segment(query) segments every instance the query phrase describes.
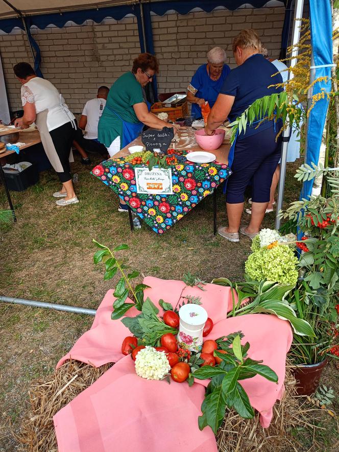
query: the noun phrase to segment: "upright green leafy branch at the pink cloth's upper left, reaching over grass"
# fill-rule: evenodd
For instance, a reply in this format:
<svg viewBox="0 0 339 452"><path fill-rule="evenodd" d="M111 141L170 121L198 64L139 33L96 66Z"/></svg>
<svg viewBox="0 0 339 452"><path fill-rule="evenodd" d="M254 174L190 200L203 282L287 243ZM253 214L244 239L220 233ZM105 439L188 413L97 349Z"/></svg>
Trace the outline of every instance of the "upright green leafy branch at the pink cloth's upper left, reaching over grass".
<svg viewBox="0 0 339 452"><path fill-rule="evenodd" d="M131 273L126 274L124 270L130 267L127 264L124 264L123 261L118 260L114 254L121 250L128 250L129 246L126 244L118 245L111 251L107 246L96 242L94 239L93 243L100 248L93 256L94 264L99 264L100 262L105 264L106 271L104 280L112 279L117 271L122 275L117 282L113 293L116 300L113 303L112 320L119 319L133 306L141 311L143 291L149 286L146 286L146 284L137 284L135 288L133 288L130 281L131 279L137 278L140 273L133 270ZM129 295L133 303L126 303L126 299Z"/></svg>

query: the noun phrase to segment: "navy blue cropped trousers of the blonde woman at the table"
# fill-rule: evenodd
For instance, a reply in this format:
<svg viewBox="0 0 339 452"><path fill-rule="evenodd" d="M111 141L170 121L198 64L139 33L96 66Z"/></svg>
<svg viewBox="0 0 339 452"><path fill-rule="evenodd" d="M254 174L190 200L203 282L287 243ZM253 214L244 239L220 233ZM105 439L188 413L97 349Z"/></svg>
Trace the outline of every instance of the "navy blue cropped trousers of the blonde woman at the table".
<svg viewBox="0 0 339 452"><path fill-rule="evenodd" d="M269 202L273 174L281 155L281 139L275 141L280 128L265 129L249 137L237 139L232 175L227 181L226 202L244 202L246 187L252 185L253 202Z"/></svg>

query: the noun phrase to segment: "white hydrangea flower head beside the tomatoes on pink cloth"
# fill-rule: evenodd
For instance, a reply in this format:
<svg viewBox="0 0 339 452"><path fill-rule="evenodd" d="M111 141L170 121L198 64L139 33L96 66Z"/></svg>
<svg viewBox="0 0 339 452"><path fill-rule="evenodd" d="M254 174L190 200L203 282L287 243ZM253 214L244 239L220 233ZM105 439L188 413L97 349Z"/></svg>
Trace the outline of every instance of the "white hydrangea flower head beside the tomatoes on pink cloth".
<svg viewBox="0 0 339 452"><path fill-rule="evenodd" d="M165 353L154 347L142 348L136 355L135 372L142 378L161 380L170 370Z"/></svg>

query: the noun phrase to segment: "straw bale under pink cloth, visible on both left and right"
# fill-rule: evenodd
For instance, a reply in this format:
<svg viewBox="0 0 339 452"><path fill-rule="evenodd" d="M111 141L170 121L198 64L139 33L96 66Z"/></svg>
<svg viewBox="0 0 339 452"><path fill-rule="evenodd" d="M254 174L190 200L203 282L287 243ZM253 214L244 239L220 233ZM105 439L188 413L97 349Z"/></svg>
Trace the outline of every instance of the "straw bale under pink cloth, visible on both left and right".
<svg viewBox="0 0 339 452"><path fill-rule="evenodd" d="M88 388L111 364L98 369L78 361L67 361L47 382L36 382L29 391L30 408L15 438L21 450L28 452L57 452L53 415ZM305 397L296 395L295 379L287 368L285 393L274 406L269 429L263 429L259 415L243 419L235 411L226 412L217 434L219 452L291 452L302 446L292 436L294 427L313 427L321 410L310 406ZM187 451L189 452L189 451Z"/></svg>

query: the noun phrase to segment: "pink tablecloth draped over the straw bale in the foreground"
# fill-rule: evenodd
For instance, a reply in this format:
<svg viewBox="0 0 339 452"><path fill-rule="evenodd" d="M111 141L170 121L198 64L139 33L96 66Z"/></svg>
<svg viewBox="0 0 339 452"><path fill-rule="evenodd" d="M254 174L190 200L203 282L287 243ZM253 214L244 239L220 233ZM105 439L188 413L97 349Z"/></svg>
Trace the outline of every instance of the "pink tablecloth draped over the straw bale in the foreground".
<svg viewBox="0 0 339 452"><path fill-rule="evenodd" d="M147 277L151 286L145 295L158 305L162 298L177 304L185 284L182 281ZM238 330L243 343L250 342L249 356L261 359L279 377L278 384L261 376L243 380L252 406L260 412L263 427L269 426L273 405L281 397L285 376L286 353L292 343L289 323L263 314L226 319L232 306L230 289L207 284L206 291L185 288L183 295L200 296L213 319L214 327L206 339L216 339ZM119 320L110 319L113 303L108 291L98 308L92 328L62 358L69 358L99 367L116 362L92 386L83 391L54 416L59 452L215 452L212 430L198 429L198 416L204 398L204 385L189 388L186 383L145 380L135 374L130 356L120 350L129 330ZM182 300L183 301L183 300ZM160 311L161 312L161 311ZM134 316L137 311L130 311Z"/></svg>

